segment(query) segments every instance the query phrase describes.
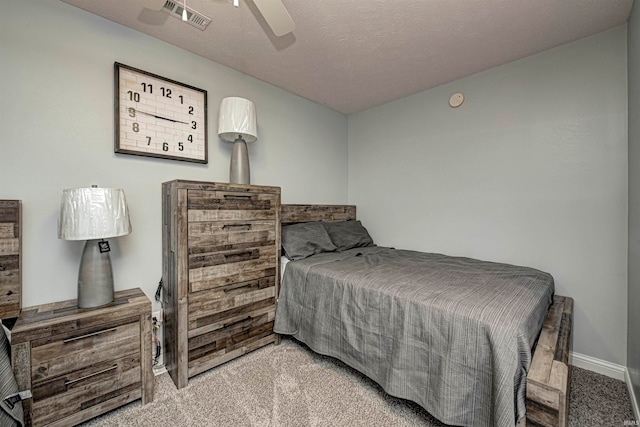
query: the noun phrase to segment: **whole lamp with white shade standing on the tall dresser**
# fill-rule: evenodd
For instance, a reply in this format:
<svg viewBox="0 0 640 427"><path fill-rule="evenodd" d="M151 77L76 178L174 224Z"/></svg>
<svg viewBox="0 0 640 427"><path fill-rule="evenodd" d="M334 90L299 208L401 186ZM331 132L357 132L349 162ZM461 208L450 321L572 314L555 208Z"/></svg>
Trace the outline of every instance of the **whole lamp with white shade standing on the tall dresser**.
<svg viewBox="0 0 640 427"><path fill-rule="evenodd" d="M253 102L244 98L224 98L220 103L218 136L233 142L229 182L249 184L249 153L246 143L258 140L256 109Z"/></svg>

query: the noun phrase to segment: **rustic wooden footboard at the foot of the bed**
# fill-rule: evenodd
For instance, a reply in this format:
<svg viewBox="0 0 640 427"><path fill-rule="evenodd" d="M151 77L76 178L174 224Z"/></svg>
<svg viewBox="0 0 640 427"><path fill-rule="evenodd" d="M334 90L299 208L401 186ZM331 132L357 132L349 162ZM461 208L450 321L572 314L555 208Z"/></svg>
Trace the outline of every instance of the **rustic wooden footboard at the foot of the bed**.
<svg viewBox="0 0 640 427"><path fill-rule="evenodd" d="M573 298L554 296L527 375L527 426L567 425L572 323Z"/></svg>

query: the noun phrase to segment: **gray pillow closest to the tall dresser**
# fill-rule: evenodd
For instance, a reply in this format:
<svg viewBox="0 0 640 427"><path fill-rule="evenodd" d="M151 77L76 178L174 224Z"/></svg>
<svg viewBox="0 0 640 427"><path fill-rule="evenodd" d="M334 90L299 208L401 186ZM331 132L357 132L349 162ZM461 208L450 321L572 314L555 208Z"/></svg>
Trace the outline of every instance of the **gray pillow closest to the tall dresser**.
<svg viewBox="0 0 640 427"><path fill-rule="evenodd" d="M292 261L337 249L320 222L283 225L282 247L286 257Z"/></svg>

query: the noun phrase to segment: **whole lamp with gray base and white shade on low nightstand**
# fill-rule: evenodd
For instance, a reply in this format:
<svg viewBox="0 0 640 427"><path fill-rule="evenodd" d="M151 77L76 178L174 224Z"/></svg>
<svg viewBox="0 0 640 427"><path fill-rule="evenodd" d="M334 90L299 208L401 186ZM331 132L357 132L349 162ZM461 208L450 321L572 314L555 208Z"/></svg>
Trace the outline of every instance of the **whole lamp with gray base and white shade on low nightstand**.
<svg viewBox="0 0 640 427"><path fill-rule="evenodd" d="M73 188L62 191L58 238L86 240L78 272L78 307L93 308L113 301L109 242L131 233L124 190Z"/></svg>

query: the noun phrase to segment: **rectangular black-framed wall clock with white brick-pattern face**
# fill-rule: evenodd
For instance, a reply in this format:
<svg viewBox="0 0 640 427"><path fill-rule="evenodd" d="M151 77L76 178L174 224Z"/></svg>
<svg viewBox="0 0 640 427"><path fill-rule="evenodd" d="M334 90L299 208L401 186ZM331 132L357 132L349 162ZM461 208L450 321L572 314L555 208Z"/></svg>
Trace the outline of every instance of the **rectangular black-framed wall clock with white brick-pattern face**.
<svg viewBox="0 0 640 427"><path fill-rule="evenodd" d="M115 63L115 152L207 163L207 91Z"/></svg>

